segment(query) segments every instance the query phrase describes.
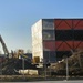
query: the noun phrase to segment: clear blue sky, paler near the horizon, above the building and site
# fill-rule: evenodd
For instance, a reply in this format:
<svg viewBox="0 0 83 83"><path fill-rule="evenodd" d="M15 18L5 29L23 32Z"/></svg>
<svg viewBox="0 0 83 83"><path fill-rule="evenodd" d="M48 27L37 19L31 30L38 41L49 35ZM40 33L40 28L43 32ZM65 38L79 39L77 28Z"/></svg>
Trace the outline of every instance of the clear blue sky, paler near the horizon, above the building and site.
<svg viewBox="0 0 83 83"><path fill-rule="evenodd" d="M83 18L83 0L0 0L0 34L9 51L32 50L32 24L54 18Z"/></svg>

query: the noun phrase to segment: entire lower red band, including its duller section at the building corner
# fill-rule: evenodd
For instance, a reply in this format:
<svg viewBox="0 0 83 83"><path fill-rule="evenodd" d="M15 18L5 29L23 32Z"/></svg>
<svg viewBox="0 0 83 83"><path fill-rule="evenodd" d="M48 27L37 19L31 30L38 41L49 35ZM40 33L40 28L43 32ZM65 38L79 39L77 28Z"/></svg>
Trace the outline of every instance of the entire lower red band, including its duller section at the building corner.
<svg viewBox="0 0 83 83"><path fill-rule="evenodd" d="M83 49L82 41L44 41L44 51L71 51L76 49Z"/></svg>

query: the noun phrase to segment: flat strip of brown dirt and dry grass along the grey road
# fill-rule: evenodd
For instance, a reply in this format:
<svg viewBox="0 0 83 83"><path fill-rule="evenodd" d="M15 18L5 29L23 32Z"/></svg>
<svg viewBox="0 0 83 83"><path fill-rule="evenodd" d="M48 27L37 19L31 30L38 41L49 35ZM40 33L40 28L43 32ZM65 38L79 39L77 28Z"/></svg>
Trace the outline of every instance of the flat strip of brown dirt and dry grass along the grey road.
<svg viewBox="0 0 83 83"><path fill-rule="evenodd" d="M0 82L34 82L34 81L64 81L66 76L41 75L0 75ZM69 76L68 81L83 80L83 76Z"/></svg>

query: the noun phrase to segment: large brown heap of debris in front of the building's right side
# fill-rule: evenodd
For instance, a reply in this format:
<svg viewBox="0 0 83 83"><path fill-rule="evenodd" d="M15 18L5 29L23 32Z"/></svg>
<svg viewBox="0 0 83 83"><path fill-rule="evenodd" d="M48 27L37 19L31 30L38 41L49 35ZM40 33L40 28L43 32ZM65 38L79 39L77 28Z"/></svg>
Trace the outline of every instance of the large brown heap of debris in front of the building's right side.
<svg viewBox="0 0 83 83"><path fill-rule="evenodd" d="M68 65L69 74L83 75L83 50L79 50L68 58ZM51 64L51 70L55 73L65 74L66 59Z"/></svg>

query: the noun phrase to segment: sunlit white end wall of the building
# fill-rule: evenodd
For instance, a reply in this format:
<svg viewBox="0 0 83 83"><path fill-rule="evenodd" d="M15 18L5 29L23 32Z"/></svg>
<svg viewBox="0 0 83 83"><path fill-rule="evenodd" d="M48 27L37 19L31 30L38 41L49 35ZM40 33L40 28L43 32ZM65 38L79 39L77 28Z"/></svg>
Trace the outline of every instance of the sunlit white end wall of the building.
<svg viewBox="0 0 83 83"><path fill-rule="evenodd" d="M43 56L42 50L42 20L32 25L32 55Z"/></svg>

